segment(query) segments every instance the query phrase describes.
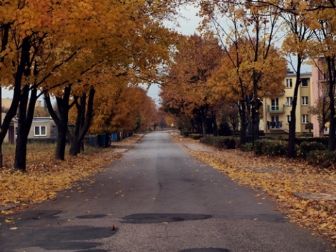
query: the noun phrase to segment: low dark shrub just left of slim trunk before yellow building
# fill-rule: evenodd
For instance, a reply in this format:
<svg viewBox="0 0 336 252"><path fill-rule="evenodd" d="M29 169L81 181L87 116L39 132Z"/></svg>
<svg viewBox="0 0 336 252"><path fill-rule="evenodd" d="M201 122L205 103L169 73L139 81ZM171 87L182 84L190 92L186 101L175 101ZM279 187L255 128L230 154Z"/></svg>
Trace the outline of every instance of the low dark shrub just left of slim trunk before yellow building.
<svg viewBox="0 0 336 252"><path fill-rule="evenodd" d="M254 143L254 153L256 155L287 155L287 142L279 140L262 139Z"/></svg>

